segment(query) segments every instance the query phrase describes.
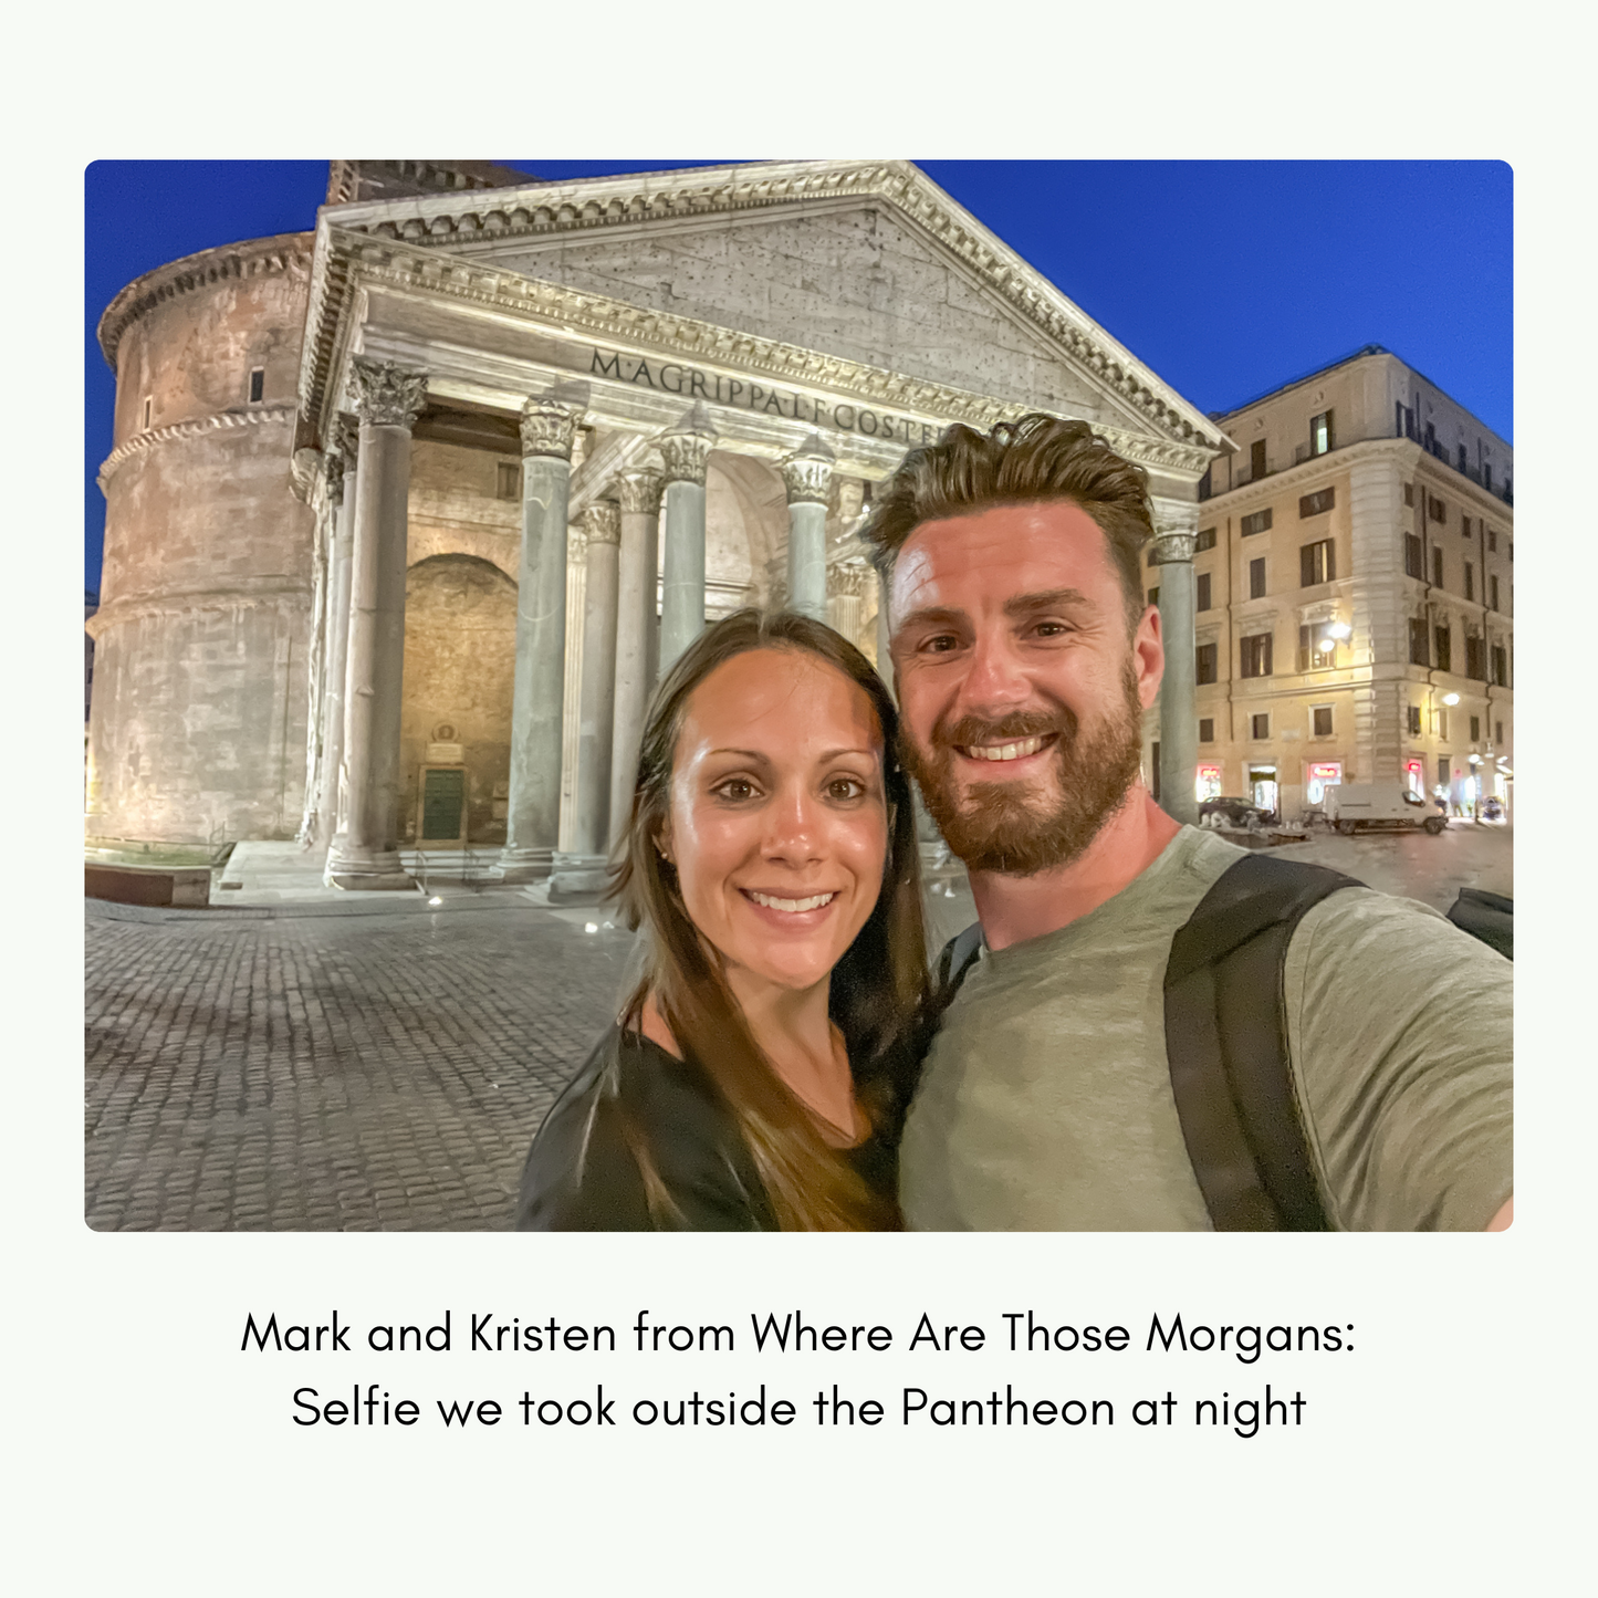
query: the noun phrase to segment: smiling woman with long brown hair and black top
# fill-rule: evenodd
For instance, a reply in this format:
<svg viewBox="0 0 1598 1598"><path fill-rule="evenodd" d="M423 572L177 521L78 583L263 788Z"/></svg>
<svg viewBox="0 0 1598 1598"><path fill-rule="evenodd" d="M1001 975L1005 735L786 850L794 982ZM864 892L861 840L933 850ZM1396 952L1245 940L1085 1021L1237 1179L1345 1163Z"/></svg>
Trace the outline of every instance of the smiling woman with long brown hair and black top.
<svg viewBox="0 0 1598 1598"><path fill-rule="evenodd" d="M927 962L895 732L809 617L740 610L676 662L612 866L644 975L534 1139L519 1227L900 1224Z"/></svg>

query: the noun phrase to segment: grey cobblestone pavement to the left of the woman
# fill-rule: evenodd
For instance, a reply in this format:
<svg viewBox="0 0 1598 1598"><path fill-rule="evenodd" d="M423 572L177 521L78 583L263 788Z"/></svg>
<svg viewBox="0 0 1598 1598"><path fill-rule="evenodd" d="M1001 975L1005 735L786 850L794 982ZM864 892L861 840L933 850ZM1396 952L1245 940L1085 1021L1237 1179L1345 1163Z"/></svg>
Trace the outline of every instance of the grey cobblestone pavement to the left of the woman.
<svg viewBox="0 0 1598 1598"><path fill-rule="evenodd" d="M96 1230L495 1230L631 938L519 896L88 917Z"/></svg>

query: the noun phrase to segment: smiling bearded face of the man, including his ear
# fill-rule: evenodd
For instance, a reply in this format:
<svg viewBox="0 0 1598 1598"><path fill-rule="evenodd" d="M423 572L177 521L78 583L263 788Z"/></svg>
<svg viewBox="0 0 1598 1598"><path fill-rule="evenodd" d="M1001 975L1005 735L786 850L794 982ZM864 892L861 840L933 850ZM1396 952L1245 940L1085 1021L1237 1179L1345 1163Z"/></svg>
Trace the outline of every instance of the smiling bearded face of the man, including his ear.
<svg viewBox="0 0 1598 1598"><path fill-rule="evenodd" d="M1066 502L928 521L888 591L906 764L949 847L1015 876L1075 860L1138 780L1159 612L1128 634L1099 526Z"/></svg>

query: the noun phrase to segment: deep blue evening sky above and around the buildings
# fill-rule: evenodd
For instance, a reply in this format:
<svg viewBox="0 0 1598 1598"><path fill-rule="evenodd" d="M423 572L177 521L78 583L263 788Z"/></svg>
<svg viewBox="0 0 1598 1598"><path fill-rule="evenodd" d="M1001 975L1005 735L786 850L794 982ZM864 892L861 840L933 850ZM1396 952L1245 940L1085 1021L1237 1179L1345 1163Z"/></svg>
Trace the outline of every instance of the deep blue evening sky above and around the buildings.
<svg viewBox="0 0 1598 1598"><path fill-rule="evenodd" d="M708 160L505 165L558 179ZM1501 161L920 165L1200 411L1384 344L1513 441L1513 179ZM115 398L101 312L179 256L315 227L326 187L324 161L88 168L86 586L99 586L94 475Z"/></svg>

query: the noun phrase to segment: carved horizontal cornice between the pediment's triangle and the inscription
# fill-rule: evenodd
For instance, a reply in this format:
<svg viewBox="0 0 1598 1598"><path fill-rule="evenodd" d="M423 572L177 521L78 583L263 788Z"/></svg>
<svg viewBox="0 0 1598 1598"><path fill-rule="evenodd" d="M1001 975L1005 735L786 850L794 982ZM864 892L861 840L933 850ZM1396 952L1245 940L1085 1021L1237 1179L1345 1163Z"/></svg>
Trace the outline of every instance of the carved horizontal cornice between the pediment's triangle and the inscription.
<svg viewBox="0 0 1598 1598"><path fill-rule="evenodd" d="M729 372L764 372L797 387L869 400L943 422L965 422L980 430L996 422L1013 422L1032 409L716 323L646 310L503 267L441 257L409 244L328 229L316 244L299 388L302 412L318 436L326 431L326 417L337 404L331 382L339 368L339 352L348 344L356 302L369 288L455 299L497 315L508 313L540 331L588 334L630 355L673 355L706 366L719 364ZM1214 459L1210 446L1098 422L1093 430L1119 454L1144 467L1197 476Z"/></svg>

